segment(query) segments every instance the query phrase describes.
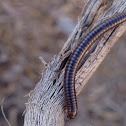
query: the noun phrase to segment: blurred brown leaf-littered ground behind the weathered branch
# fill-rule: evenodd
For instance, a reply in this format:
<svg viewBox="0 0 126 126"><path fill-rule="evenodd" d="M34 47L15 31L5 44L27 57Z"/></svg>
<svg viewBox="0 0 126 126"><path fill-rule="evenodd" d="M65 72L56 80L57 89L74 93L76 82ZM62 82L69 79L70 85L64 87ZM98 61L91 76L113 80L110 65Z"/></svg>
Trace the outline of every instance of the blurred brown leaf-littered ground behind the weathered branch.
<svg viewBox="0 0 126 126"><path fill-rule="evenodd" d="M0 104L12 126L23 125L25 97L78 22L78 0L0 0ZM126 126L126 33L78 96L67 126ZM0 110L0 126L7 126Z"/></svg>

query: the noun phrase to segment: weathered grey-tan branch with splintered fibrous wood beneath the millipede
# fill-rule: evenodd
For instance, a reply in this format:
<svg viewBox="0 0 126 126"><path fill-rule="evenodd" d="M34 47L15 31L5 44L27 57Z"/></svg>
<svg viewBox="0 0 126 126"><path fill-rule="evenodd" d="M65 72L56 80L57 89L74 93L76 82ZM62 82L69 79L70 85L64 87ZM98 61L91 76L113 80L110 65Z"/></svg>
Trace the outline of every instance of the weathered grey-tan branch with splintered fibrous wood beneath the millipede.
<svg viewBox="0 0 126 126"><path fill-rule="evenodd" d="M125 0L89 0L84 5L82 17L71 33L61 52L47 64L42 78L29 94L26 103L24 126L63 126L64 125L64 66L68 56L78 45L80 39L91 28L111 17L125 11ZM108 31L91 51L84 57L76 75L76 92L80 93L84 85L108 54L111 47L126 30L126 23Z"/></svg>

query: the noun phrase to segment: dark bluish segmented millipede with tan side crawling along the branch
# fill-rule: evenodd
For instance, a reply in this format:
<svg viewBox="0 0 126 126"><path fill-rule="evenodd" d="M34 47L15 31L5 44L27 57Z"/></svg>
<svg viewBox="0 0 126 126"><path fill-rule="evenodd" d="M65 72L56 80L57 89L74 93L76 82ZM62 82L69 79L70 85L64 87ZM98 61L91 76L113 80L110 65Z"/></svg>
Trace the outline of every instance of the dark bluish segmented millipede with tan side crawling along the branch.
<svg viewBox="0 0 126 126"><path fill-rule="evenodd" d="M75 76L81 59L96 43L97 39L99 39L105 32L118 26L124 21L126 21L126 12L116 14L97 25L87 34L85 39L79 43L68 59L64 74L65 107L68 118L74 119L77 115L78 107L75 91Z"/></svg>

